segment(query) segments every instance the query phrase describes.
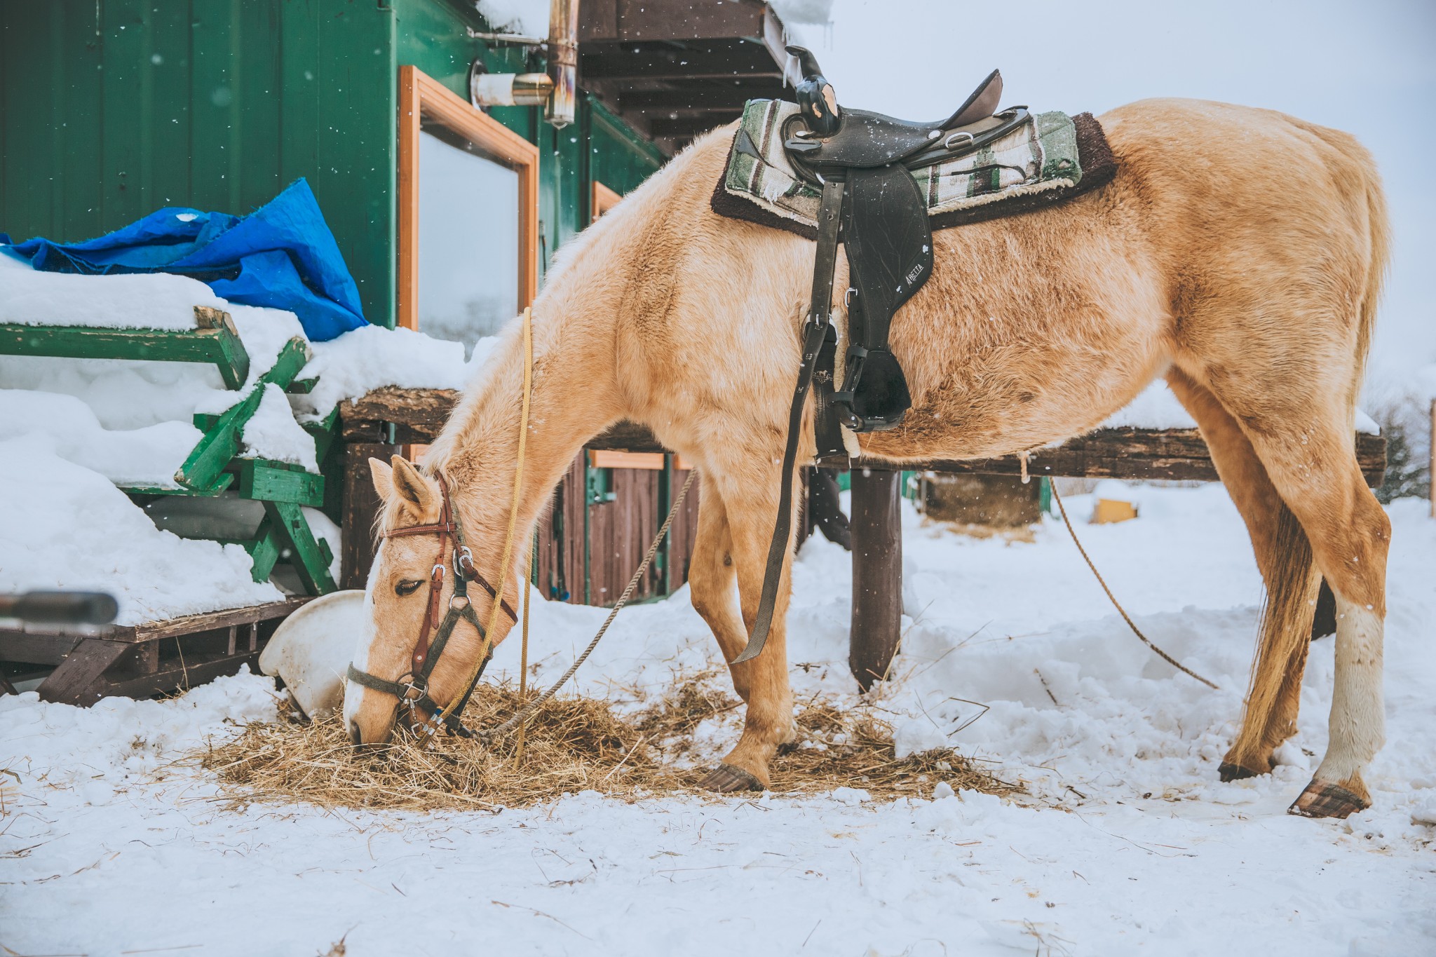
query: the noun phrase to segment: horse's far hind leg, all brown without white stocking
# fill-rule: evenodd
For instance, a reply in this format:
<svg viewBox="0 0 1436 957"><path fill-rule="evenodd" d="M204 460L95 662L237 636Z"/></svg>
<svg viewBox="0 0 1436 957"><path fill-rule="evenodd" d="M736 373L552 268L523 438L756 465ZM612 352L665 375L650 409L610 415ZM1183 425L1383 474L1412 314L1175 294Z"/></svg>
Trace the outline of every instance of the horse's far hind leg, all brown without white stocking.
<svg viewBox="0 0 1436 957"><path fill-rule="evenodd" d="M1246 522L1256 567L1267 584L1272 611L1262 616L1242 729L1219 769L1222 781L1264 775L1272 769L1277 748L1297 732L1310 647L1311 616L1302 610L1311 600L1311 547L1271 484L1251 439L1216 396L1178 369L1167 373L1167 383L1202 429L1216 472ZM1300 541L1291 541L1292 537Z"/></svg>

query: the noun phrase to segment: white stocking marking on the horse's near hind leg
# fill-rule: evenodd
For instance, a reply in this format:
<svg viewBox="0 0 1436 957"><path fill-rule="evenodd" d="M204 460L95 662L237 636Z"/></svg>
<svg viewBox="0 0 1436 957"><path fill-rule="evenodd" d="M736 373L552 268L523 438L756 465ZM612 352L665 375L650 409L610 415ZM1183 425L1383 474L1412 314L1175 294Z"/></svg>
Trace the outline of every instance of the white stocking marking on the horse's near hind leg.
<svg viewBox="0 0 1436 957"><path fill-rule="evenodd" d="M1381 617L1337 597L1337 676L1330 742L1315 779L1341 782L1358 773L1386 743L1381 692Z"/></svg>

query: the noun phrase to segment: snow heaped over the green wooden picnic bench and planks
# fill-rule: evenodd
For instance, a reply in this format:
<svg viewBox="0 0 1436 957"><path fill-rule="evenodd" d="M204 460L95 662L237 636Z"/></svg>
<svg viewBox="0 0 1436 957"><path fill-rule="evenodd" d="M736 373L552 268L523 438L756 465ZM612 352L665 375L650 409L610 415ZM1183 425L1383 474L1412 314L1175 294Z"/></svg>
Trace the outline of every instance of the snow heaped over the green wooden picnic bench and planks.
<svg viewBox="0 0 1436 957"><path fill-rule="evenodd" d="M227 303L180 275L36 273L0 254L0 321L192 329L197 304L234 319L250 354L241 389L225 389L218 370L202 363L0 356L0 492L7 502L0 512L0 590L101 588L119 598L123 624L281 597L274 585L251 581L250 558L238 545L161 531L215 535L223 525L224 537L247 538L263 517L258 504L231 495L198 504L167 496L141 509L115 486L178 488L175 472L202 438L192 418L221 413L257 387L280 350L303 339L294 314ZM314 343L300 376L322 376L317 389L290 397L266 385L243 432L241 456L317 471L314 439L296 416L323 418L339 400L383 385L460 389L494 341L481 340L468 363L462 344L409 330L365 326ZM39 511L30 504L37 482L46 501ZM329 541L337 575L339 529L322 512L306 514L316 537Z"/></svg>

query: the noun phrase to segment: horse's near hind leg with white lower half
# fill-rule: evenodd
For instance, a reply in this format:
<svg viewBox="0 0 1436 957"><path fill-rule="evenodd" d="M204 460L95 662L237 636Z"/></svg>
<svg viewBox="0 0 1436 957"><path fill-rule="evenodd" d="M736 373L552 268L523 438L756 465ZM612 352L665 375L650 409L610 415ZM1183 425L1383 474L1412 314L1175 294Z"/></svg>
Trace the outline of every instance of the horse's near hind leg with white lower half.
<svg viewBox="0 0 1436 957"><path fill-rule="evenodd" d="M1328 353L1330 354L1330 353ZM1315 598L1302 538L1337 600L1337 669L1331 694L1330 740L1315 776L1291 806L1294 814L1344 818L1371 803L1361 770L1384 742L1381 640L1386 617L1386 555L1391 524L1366 486L1351 442L1350 413L1331 379L1300 356L1321 362L1321 350L1302 350L1290 367L1256 363L1251 379L1228 366L1212 392L1242 423L1267 466L1272 485L1300 522L1278 522L1279 574L1298 583L1281 605L1268 603L1267 618L1305 640ZM1285 374L1282 374L1285 372ZM1327 370L1328 372L1328 370ZM1353 370L1353 379L1356 373ZM1212 387L1212 383L1205 383ZM1307 591L1301 591L1305 587ZM1274 699L1279 687L1262 689ZM1252 694L1258 693L1254 683Z"/></svg>

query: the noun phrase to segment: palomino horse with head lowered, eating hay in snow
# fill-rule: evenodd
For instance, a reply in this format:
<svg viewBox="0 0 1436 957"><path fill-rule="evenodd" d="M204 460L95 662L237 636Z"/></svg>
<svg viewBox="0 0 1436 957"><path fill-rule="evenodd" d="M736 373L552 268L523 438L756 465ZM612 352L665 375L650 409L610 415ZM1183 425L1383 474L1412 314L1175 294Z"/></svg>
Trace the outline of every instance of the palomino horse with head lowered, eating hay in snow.
<svg viewBox="0 0 1436 957"><path fill-rule="evenodd" d="M932 280L892 329L913 407L900 428L859 442L895 463L1011 455L1094 428L1166 376L1246 521L1268 590L1244 725L1219 773L1269 772L1295 730L1324 575L1337 597L1331 739L1292 811L1346 816L1370 803L1361 772L1384 735L1390 524L1353 449L1387 258L1374 164L1346 133L1244 106L1144 100L1101 125L1119 164L1109 185L933 235ZM752 626L780 484L791 481L780 462L814 250L711 211L731 139L731 126L701 138L563 250L533 308L516 538L528 541L586 440L619 419L649 426L702 472L692 603L729 661ZM491 583L514 581L524 561L498 568L523 374L513 323L426 472L372 462L382 529L438 521L442 476ZM437 547L434 535L383 542L359 669L409 673ZM768 760L794 737L787 574L767 650L732 667L747 716L705 782L714 789L767 785ZM487 621L490 597L471 595ZM511 623L497 623L501 640ZM481 647L461 623L432 671L432 700L452 700ZM356 743L388 739L396 710L393 694L349 684Z"/></svg>

